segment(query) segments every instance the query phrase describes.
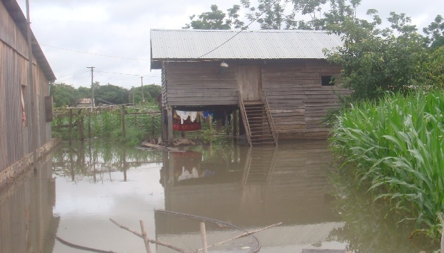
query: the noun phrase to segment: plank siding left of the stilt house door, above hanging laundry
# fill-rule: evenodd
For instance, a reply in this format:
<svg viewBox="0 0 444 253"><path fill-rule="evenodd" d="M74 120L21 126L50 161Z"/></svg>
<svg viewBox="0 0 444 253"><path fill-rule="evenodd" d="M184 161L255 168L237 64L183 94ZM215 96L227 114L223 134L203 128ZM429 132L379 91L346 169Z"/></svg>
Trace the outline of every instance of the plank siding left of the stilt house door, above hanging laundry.
<svg viewBox="0 0 444 253"><path fill-rule="evenodd" d="M237 67L230 66L221 73L220 64L220 61L164 63L164 106L237 105Z"/></svg>

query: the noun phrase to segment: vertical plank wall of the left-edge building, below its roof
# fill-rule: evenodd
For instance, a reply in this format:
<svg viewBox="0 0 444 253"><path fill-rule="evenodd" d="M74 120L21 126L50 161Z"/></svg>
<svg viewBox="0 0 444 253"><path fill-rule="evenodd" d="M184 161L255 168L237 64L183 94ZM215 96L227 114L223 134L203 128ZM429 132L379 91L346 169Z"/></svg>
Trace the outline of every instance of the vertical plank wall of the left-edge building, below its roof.
<svg viewBox="0 0 444 253"><path fill-rule="evenodd" d="M32 114L37 115L37 147L51 140L51 123L46 123L44 96L49 82L33 59L35 107L31 108L28 87L28 49L26 39L0 1L0 172L32 152ZM22 127L21 91L24 91L26 125Z"/></svg>

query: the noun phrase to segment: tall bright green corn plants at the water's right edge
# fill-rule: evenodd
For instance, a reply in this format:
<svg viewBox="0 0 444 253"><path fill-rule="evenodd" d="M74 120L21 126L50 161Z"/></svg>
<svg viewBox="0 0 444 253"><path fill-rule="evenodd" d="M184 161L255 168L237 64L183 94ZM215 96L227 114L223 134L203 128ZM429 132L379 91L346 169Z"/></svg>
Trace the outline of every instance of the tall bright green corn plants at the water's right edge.
<svg viewBox="0 0 444 253"><path fill-rule="evenodd" d="M330 147L375 200L438 239L444 211L444 94L387 94L336 117Z"/></svg>

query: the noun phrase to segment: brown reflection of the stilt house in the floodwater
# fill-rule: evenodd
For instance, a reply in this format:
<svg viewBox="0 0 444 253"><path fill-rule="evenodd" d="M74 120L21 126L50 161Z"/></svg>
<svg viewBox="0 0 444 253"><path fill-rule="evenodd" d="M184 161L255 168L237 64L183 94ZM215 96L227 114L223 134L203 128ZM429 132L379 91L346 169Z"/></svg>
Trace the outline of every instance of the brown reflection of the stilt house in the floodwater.
<svg viewBox="0 0 444 253"><path fill-rule="evenodd" d="M278 148L239 147L234 155L213 155L206 161L200 157L196 152L164 154L161 183L166 210L214 218L247 230L282 222L257 234L268 250L322 247L330 240L330 232L343 226L332 211L327 172L333 157L325 141L284 143ZM183 233L199 231L189 223L168 222L160 214L155 219L160 241L177 242ZM336 247L344 245L336 243Z"/></svg>

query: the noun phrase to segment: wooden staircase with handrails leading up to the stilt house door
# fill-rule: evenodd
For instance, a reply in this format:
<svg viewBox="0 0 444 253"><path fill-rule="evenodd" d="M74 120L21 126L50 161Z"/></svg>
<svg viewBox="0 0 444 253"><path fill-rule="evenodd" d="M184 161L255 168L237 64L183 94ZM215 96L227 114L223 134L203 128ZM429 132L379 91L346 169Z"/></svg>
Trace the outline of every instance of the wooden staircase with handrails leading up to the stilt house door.
<svg viewBox="0 0 444 253"><path fill-rule="evenodd" d="M262 101L239 99L239 107L248 144L250 146L269 144L278 146L278 137L265 94L262 96Z"/></svg>

